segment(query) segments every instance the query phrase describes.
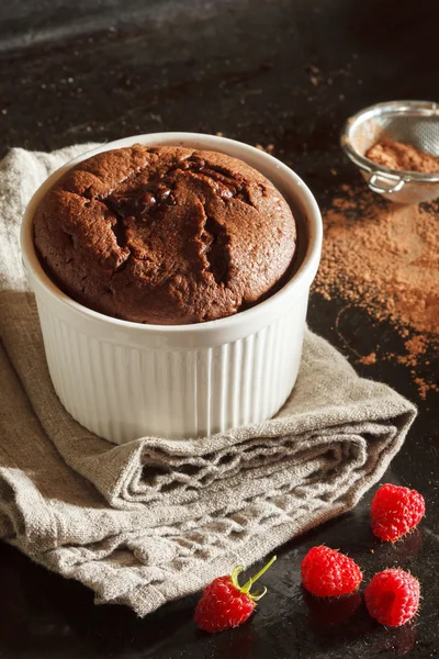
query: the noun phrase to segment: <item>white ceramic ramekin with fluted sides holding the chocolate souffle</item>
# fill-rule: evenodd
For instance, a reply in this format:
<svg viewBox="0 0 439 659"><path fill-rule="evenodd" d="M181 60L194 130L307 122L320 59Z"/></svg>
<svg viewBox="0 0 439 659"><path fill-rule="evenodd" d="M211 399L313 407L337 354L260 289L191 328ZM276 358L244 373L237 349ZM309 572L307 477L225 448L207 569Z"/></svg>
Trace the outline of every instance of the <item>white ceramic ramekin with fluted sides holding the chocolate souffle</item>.
<svg viewBox="0 0 439 659"><path fill-rule="evenodd" d="M46 276L33 245L33 216L48 188L90 156L135 143L173 144L240 158L290 203L307 247L294 277L236 315L198 325L143 325L91 311ZM35 292L55 390L83 426L116 444L137 437L202 437L272 416L294 386L309 286L322 248L314 197L289 167L246 144L196 133L137 135L105 144L58 169L35 192L22 225L22 255Z"/></svg>

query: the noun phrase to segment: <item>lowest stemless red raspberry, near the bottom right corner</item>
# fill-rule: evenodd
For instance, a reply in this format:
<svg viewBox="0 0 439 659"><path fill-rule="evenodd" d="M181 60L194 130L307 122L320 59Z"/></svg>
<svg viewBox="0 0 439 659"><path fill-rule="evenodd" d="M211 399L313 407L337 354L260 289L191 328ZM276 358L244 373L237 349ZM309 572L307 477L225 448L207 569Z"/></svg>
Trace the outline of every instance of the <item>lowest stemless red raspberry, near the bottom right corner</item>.
<svg viewBox="0 0 439 659"><path fill-rule="evenodd" d="M419 596L419 581L395 568L375 574L364 591L371 616L390 627L399 627L415 615Z"/></svg>

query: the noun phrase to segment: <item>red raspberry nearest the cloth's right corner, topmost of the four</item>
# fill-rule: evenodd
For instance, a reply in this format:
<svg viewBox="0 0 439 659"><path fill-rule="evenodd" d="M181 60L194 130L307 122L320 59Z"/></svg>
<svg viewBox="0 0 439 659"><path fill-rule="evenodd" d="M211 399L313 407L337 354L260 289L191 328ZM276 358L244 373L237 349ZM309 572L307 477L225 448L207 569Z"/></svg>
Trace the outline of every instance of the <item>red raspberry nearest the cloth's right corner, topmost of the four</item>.
<svg viewBox="0 0 439 659"><path fill-rule="evenodd" d="M419 492L390 483L381 485L371 506L372 532L394 543L415 528L424 514L425 501Z"/></svg>

